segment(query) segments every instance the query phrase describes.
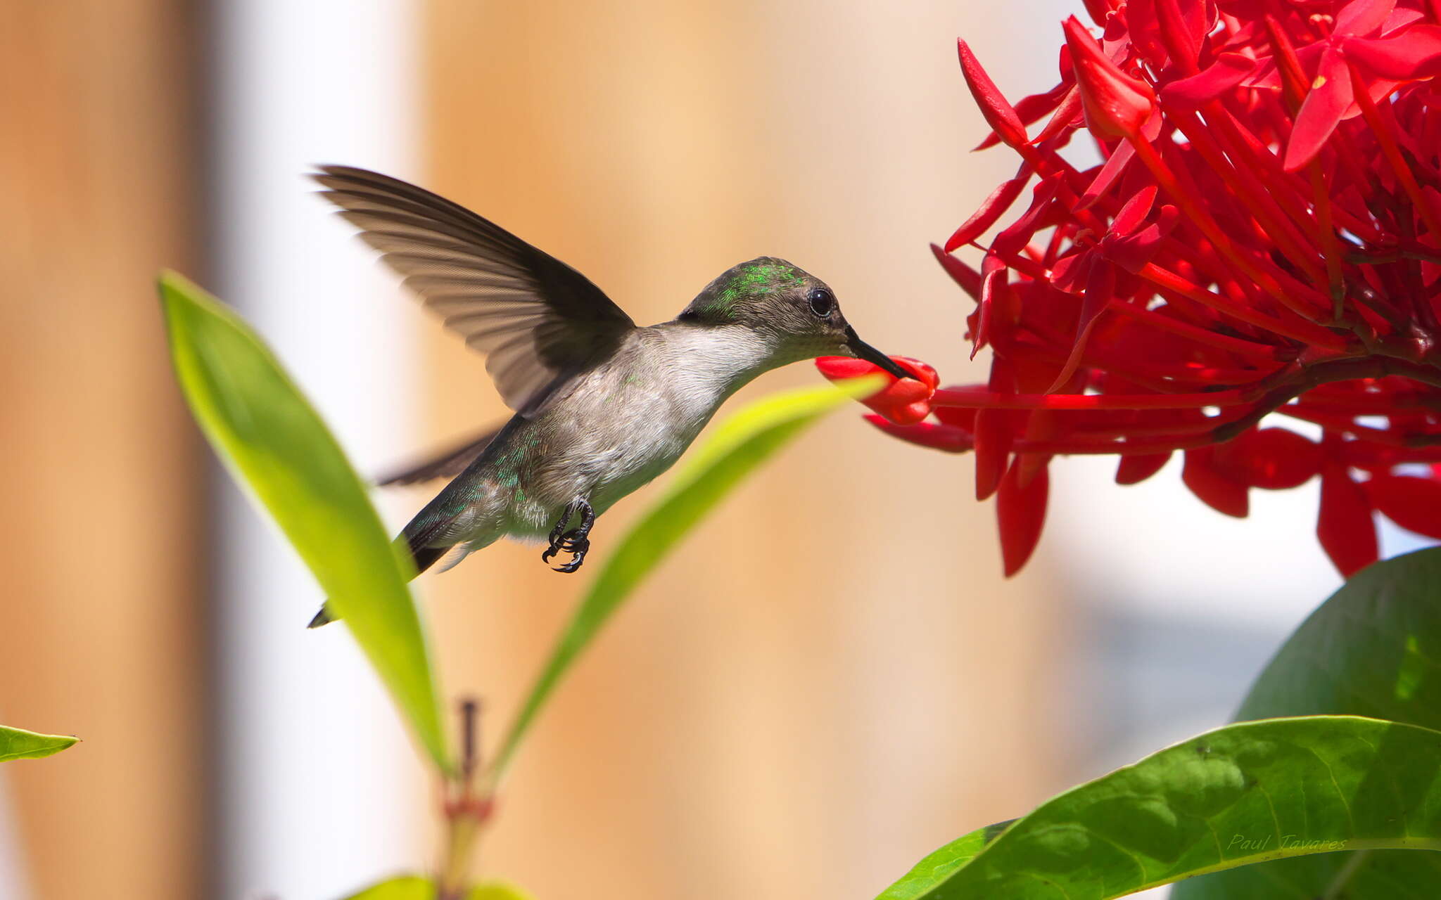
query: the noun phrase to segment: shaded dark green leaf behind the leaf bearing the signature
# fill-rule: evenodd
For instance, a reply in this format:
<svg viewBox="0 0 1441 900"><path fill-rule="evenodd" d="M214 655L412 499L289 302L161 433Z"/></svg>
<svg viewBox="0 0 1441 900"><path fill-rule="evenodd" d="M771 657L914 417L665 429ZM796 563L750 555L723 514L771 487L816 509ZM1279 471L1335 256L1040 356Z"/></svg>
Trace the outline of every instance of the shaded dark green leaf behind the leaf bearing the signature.
<svg viewBox="0 0 1441 900"><path fill-rule="evenodd" d="M1236 719L1352 714L1441 732L1441 549L1357 573L1281 647ZM1179 886L1174 900L1435 897L1441 857L1369 851L1278 860Z"/></svg>

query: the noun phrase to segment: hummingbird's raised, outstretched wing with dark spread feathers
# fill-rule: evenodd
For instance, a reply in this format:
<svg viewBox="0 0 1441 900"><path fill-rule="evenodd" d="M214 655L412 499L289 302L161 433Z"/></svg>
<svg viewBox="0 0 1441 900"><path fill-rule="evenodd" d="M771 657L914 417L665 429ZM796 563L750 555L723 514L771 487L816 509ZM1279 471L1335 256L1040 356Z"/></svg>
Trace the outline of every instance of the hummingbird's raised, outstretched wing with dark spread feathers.
<svg viewBox="0 0 1441 900"><path fill-rule="evenodd" d="M349 166L320 166L323 197L465 343L506 405L533 415L635 327L591 281L464 206Z"/></svg>

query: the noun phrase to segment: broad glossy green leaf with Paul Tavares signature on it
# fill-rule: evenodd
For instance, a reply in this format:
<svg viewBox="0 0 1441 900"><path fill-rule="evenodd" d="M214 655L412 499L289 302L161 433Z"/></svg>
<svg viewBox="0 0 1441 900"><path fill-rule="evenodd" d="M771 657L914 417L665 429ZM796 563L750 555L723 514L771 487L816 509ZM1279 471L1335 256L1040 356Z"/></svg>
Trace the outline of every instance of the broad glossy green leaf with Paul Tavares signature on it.
<svg viewBox="0 0 1441 900"><path fill-rule="evenodd" d="M880 897L1105 900L1281 857L1441 850L1441 732L1350 716L1232 724L986 837L927 857Z"/></svg>

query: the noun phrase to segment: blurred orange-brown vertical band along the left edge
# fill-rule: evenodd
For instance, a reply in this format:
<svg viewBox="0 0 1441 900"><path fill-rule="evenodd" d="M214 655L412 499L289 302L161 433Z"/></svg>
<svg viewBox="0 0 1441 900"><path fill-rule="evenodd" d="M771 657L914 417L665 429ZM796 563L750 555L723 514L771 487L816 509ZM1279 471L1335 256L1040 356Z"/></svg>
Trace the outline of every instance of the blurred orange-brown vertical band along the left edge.
<svg viewBox="0 0 1441 900"><path fill-rule="evenodd" d="M200 261L197 19L171 0L0 14L0 721L85 740L0 773L0 873L23 855L36 897L193 897L203 465L151 285Z"/></svg>

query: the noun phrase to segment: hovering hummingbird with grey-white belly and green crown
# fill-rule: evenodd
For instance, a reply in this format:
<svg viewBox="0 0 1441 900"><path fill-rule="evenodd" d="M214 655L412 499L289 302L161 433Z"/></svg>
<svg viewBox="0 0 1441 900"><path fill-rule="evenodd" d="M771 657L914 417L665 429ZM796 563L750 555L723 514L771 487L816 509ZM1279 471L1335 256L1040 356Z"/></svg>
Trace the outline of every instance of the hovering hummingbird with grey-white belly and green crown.
<svg viewBox="0 0 1441 900"><path fill-rule="evenodd" d="M421 573L500 537L575 572L595 518L664 472L758 374L852 356L912 377L846 323L821 279L775 256L735 265L680 314L640 327L585 275L464 206L365 168L311 177L445 325L486 354L514 415L391 482L458 474L405 526ZM460 468L464 465L464 468ZM448 559L447 559L448 557ZM331 621L327 608L311 621Z"/></svg>

